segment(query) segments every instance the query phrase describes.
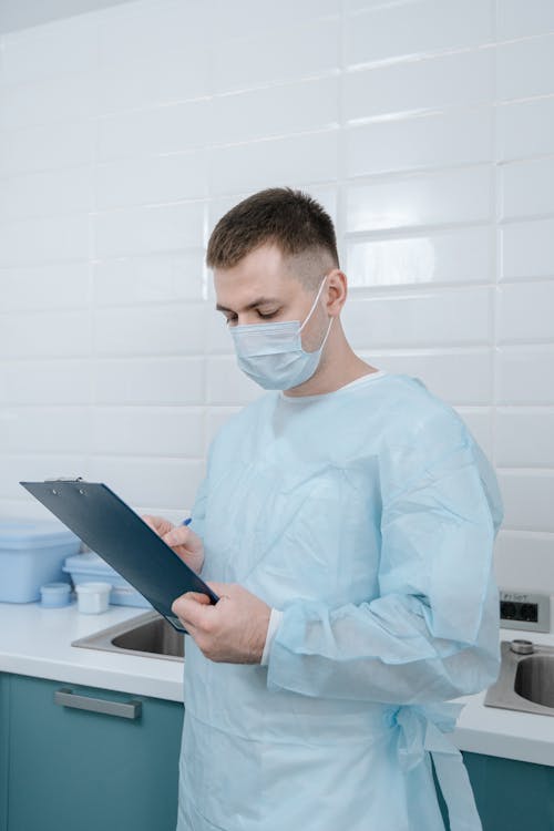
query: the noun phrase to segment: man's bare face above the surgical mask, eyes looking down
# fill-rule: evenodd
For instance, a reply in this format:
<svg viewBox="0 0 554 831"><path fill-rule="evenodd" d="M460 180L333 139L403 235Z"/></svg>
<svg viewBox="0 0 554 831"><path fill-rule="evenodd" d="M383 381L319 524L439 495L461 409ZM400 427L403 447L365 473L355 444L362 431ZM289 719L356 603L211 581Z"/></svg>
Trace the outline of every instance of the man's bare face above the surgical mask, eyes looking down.
<svg viewBox="0 0 554 831"><path fill-rule="evenodd" d="M302 267L310 266L302 264ZM311 265L311 269L317 270L317 266ZM321 270L320 280L324 274ZM275 245L257 248L233 268L216 268L214 284L216 308L225 315L229 327L283 320L304 322L317 293L295 276L294 258L284 257ZM320 300L302 329L302 346L307 351L318 349L327 322Z"/></svg>

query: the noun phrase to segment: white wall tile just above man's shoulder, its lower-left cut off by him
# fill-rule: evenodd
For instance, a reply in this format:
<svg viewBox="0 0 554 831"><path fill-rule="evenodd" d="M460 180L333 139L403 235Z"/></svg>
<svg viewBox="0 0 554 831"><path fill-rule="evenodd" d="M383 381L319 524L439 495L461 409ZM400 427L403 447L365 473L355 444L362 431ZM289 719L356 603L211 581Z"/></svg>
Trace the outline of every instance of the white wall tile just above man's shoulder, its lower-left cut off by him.
<svg viewBox="0 0 554 831"><path fill-rule="evenodd" d="M379 369L419 378L450 404L488 404L492 400L492 357L488 350L376 350L361 356Z"/></svg>

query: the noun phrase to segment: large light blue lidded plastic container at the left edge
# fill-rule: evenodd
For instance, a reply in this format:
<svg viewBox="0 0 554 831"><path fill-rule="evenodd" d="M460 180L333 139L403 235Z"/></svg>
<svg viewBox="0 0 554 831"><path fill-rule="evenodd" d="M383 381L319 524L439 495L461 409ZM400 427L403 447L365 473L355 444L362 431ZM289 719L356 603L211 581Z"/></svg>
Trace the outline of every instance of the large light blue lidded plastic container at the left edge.
<svg viewBox="0 0 554 831"><path fill-rule="evenodd" d="M63 581L63 562L80 547L60 522L0 520L0 603L39 601L41 585Z"/></svg>

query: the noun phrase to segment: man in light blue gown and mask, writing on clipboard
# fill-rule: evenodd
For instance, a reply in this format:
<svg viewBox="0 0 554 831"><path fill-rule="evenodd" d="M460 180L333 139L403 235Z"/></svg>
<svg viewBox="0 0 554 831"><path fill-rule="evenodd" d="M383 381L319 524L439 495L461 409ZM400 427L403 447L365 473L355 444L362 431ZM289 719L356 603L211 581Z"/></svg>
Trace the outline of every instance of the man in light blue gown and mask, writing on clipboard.
<svg viewBox="0 0 554 831"><path fill-rule="evenodd" d="M147 517L220 597L173 604L191 635L177 831L438 831L428 749L452 831L474 831L440 702L497 674L494 474L451 408L351 350L312 198L245 199L207 264L269 391L214 440L192 526Z"/></svg>

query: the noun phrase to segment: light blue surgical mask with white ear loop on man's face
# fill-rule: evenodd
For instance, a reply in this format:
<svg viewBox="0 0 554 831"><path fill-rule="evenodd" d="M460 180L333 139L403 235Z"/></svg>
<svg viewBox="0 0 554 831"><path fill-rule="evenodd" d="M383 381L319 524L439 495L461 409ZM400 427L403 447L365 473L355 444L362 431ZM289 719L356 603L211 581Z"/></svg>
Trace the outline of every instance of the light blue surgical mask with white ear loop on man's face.
<svg viewBox="0 0 554 831"><path fill-rule="evenodd" d="M321 280L316 299L304 324L284 320L278 324L250 324L230 329L238 366L253 381L266 390L289 390L307 381L315 373L331 330L334 318L319 349L302 349L301 331L310 319L325 285Z"/></svg>

